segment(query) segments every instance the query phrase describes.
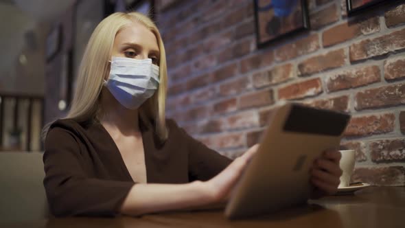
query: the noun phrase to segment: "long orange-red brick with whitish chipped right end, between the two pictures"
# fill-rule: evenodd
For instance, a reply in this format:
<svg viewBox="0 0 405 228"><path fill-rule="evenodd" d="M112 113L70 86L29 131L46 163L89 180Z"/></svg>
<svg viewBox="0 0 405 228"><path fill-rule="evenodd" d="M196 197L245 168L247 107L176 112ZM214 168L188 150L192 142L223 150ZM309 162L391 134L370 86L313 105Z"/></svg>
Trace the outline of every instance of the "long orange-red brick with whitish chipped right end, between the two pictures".
<svg viewBox="0 0 405 228"><path fill-rule="evenodd" d="M375 16L359 23L343 23L329 28L323 32L323 47L330 47L338 43L349 41L360 35L372 34L380 31L380 22Z"/></svg>

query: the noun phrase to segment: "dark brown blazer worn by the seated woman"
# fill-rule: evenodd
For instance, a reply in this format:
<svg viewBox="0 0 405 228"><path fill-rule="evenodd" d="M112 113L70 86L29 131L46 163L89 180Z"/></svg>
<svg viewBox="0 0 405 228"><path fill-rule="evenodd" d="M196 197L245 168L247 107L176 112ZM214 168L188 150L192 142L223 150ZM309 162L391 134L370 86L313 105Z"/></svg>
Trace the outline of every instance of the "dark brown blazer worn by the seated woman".
<svg viewBox="0 0 405 228"><path fill-rule="evenodd" d="M161 142L151 124L140 121L148 183L205 181L231 162L196 141L172 120ZM114 216L132 180L115 142L100 123L59 119L45 139L44 185L55 216Z"/></svg>

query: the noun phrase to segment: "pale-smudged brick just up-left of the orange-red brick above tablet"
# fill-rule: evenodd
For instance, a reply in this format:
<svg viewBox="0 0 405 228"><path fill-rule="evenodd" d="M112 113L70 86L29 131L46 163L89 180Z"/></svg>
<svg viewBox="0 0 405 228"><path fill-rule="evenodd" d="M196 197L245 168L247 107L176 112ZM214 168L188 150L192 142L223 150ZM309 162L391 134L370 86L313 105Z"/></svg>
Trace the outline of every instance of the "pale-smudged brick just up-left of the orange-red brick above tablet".
<svg viewBox="0 0 405 228"><path fill-rule="evenodd" d="M253 85L256 88L286 82L295 76L295 68L292 64L274 67L270 71L255 73L253 75Z"/></svg>

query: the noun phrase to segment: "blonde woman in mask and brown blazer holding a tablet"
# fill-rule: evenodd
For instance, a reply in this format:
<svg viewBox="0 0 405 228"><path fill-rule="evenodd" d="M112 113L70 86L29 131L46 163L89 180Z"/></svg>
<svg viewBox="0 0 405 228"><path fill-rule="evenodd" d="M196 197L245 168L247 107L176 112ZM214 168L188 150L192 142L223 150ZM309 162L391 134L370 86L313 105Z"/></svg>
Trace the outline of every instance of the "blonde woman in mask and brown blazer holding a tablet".
<svg viewBox="0 0 405 228"><path fill-rule="evenodd" d="M231 161L166 120L166 74L148 17L115 13L97 25L71 110L45 129L44 185L54 215L140 215L227 200L257 146ZM329 151L314 163L319 195L336 192L339 159Z"/></svg>

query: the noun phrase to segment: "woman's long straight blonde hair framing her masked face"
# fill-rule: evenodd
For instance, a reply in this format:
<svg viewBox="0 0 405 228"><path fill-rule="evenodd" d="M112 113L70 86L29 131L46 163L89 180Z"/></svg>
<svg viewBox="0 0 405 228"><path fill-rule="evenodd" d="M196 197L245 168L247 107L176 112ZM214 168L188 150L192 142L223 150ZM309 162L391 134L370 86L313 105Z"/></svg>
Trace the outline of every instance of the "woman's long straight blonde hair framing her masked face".
<svg viewBox="0 0 405 228"><path fill-rule="evenodd" d="M139 108L139 115L153 120L157 135L163 140L167 139L165 124L165 99L167 89L167 65L165 48L157 26L148 17L139 12L116 12L102 20L95 28L80 64L76 93L71 103L71 109L66 118L77 122L87 122L97 117L100 109L99 97L103 87L104 76L108 73L108 60L113 51L114 39L117 33L133 22L146 26L157 38L160 51L159 62L159 88ZM46 136L50 124L43 130Z"/></svg>

